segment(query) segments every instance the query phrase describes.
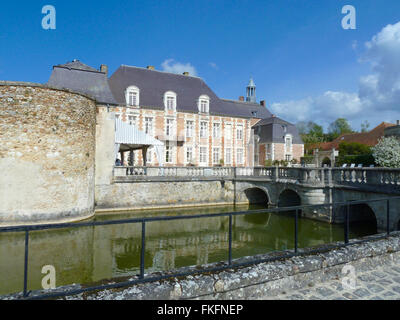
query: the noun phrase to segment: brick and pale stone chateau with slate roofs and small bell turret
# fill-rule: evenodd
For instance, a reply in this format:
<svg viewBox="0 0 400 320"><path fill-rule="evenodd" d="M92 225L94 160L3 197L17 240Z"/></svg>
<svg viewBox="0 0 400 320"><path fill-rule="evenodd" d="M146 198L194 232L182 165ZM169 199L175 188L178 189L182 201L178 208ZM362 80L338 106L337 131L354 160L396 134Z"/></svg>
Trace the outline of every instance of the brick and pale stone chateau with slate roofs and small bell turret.
<svg viewBox="0 0 400 320"><path fill-rule="evenodd" d="M220 99L199 77L121 65L108 78L80 61L53 67L48 82L94 96L115 117L164 143L165 166L254 166L266 159L300 159L303 143L294 125L274 117L256 102L253 79L246 98ZM133 152L133 165L144 165ZM127 157L126 157L127 158ZM125 159L126 159L125 158ZM146 165L160 164L153 148Z"/></svg>

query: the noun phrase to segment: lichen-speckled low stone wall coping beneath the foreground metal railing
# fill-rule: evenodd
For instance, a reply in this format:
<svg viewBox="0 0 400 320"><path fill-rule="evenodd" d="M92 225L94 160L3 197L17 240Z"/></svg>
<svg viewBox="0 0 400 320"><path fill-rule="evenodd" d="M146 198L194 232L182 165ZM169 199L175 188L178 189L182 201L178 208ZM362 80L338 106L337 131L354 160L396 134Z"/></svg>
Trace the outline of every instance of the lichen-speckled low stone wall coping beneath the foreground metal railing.
<svg viewBox="0 0 400 320"><path fill-rule="evenodd" d="M384 234L379 235L384 237ZM258 255L260 259L274 261L262 262L245 267L231 268L215 273L203 273L180 278L170 278L161 281L132 285L124 289L109 289L68 296L68 300L178 300L178 299L260 299L266 295L278 294L282 290L296 290L310 285L312 282L324 282L342 275L342 268L355 265L358 268L370 268L395 259L400 261L400 232L393 232L390 237L377 239L375 236L365 237L365 242L357 243L359 239L351 240L350 244L341 247L340 243L321 246L321 252L310 252L305 249L302 254L285 257L290 253L274 252ZM323 248L326 247L325 251ZM281 258L280 258L281 257ZM245 257L234 260L235 263L246 262L255 257ZM174 272L199 271L202 268L221 266L221 263L204 266L180 268ZM168 274L168 273L164 273ZM161 273L146 274L146 277ZM117 281L134 281L129 279L114 279L103 281L102 284ZM61 290L72 290L89 287L73 285ZM48 292L47 292L48 293ZM33 296L44 294L36 291ZM20 295L9 295L0 299L18 299Z"/></svg>

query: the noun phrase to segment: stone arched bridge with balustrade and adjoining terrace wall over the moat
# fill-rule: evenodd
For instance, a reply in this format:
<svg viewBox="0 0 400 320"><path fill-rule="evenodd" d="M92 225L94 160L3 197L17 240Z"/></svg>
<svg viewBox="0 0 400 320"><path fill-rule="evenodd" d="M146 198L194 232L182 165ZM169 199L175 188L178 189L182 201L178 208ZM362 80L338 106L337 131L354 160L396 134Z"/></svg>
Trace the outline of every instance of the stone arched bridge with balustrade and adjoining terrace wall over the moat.
<svg viewBox="0 0 400 320"><path fill-rule="evenodd" d="M113 183L96 190L98 210L204 204L319 205L400 196L400 169L115 167ZM388 201L349 206L350 222L386 230ZM302 216L343 223L345 206L305 208ZM400 229L400 199L389 201L391 230Z"/></svg>

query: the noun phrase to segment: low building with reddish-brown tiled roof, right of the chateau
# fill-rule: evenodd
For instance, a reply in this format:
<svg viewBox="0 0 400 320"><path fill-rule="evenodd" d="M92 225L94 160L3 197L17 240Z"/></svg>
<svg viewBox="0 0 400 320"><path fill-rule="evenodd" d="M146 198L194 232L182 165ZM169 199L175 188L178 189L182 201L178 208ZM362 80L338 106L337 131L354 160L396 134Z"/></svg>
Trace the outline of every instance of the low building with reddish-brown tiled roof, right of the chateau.
<svg viewBox="0 0 400 320"><path fill-rule="evenodd" d="M315 144L312 146L314 149L314 162L317 166L322 166L322 163L327 162L333 166L335 164L335 158L339 155L340 143L357 142L373 147L378 143L379 139L385 136L385 132L394 126L395 124L393 123L382 122L368 132L345 133L331 142Z"/></svg>

